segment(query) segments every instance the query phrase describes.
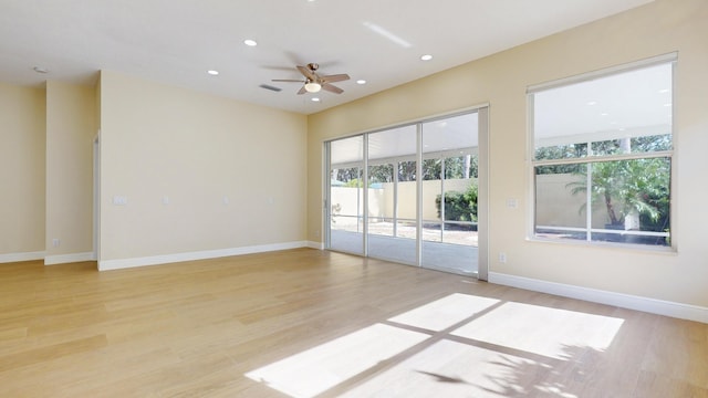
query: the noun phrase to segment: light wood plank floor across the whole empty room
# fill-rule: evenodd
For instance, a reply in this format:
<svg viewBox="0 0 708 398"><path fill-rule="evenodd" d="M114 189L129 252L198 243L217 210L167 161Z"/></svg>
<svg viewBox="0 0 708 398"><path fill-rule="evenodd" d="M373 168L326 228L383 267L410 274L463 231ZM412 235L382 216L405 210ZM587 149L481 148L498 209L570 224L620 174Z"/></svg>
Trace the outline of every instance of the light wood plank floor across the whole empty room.
<svg viewBox="0 0 708 398"><path fill-rule="evenodd" d="M708 397L708 325L310 249L0 264L0 397Z"/></svg>

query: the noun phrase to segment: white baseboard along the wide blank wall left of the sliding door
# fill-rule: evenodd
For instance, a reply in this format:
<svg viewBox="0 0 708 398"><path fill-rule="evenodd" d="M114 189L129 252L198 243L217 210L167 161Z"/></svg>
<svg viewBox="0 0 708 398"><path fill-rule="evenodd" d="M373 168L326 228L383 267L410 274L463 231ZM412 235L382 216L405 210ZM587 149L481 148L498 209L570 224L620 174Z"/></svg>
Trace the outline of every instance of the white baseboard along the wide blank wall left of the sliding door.
<svg viewBox="0 0 708 398"><path fill-rule="evenodd" d="M306 248L306 247L308 247L308 242L299 241L299 242L287 242L287 243L261 244L261 245L243 247L243 248L204 250L204 251L187 252L187 253L150 255L150 256L144 256L144 258L102 260L102 261L98 261L98 271L122 270L122 269L146 266L146 265L159 265L159 264L168 264L168 263L183 262L183 261L218 259L218 258L231 256L231 255L264 253L264 252L271 252L271 251L278 251L278 250L299 249L299 248Z"/></svg>

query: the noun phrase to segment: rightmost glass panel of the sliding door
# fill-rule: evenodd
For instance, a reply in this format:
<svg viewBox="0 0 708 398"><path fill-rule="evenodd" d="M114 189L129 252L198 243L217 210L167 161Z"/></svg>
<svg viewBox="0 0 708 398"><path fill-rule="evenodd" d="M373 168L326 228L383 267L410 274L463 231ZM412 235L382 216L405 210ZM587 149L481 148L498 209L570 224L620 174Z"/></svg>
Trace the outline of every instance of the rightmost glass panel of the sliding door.
<svg viewBox="0 0 708 398"><path fill-rule="evenodd" d="M423 124L423 263L478 272L478 114Z"/></svg>

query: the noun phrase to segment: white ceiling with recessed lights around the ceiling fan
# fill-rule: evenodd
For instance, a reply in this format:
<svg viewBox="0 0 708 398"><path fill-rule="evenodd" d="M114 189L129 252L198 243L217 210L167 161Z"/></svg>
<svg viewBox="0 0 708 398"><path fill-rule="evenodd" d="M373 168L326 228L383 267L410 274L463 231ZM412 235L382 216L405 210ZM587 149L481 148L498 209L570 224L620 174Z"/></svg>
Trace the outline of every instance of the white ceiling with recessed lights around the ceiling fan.
<svg viewBox="0 0 708 398"><path fill-rule="evenodd" d="M0 0L0 81L93 83L112 70L311 114L650 1ZM309 62L348 73L344 93L314 103L270 82Z"/></svg>

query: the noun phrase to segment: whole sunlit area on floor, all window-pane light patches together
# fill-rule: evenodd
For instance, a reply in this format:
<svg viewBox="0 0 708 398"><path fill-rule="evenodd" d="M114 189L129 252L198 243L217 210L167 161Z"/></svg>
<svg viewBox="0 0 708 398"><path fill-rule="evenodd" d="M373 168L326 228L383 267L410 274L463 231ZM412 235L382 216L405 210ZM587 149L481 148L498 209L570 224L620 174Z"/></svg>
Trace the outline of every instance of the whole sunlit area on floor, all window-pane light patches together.
<svg viewBox="0 0 708 398"><path fill-rule="evenodd" d="M554 367L607 349L624 320L456 293L387 322L246 376L295 398L337 386L352 387L343 397L572 398Z"/></svg>

